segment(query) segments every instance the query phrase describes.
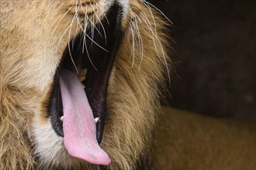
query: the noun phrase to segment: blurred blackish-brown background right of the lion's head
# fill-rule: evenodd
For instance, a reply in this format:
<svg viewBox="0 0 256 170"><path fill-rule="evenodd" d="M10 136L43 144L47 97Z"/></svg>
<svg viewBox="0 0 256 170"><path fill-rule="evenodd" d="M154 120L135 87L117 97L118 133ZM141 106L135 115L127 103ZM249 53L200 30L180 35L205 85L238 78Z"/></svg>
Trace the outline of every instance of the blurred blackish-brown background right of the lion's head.
<svg viewBox="0 0 256 170"><path fill-rule="evenodd" d="M149 0L173 22L172 107L256 121L256 1Z"/></svg>

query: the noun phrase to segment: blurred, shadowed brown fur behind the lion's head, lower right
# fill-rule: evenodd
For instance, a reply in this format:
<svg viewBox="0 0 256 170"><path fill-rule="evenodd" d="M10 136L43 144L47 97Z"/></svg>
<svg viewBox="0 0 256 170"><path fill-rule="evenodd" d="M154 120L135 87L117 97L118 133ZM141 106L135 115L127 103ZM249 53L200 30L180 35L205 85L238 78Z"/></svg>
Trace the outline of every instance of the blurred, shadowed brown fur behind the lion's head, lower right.
<svg viewBox="0 0 256 170"><path fill-rule="evenodd" d="M156 170L254 170L256 124L164 108L154 148Z"/></svg>

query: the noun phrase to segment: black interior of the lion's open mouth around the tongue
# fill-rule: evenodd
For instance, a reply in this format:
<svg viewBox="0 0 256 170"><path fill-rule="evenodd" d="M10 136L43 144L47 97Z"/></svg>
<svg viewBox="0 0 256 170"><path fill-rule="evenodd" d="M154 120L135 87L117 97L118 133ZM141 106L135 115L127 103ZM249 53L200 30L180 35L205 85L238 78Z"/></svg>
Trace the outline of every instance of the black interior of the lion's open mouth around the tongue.
<svg viewBox="0 0 256 170"><path fill-rule="evenodd" d="M59 72L62 68L78 72L87 70L85 86L88 102L92 107L94 117L99 117L96 124L96 138L100 143L106 120L106 95L112 65L119 49L122 32L119 29L121 12L118 5L113 5L109 10L107 19L102 20L102 25L97 24L97 29L88 30L86 34L91 37L84 39L83 35L74 37L67 46L62 57L62 62L54 76L54 86L48 104L48 113L54 131L64 137L63 125L60 119L63 116ZM102 29L104 26L104 30ZM106 36L105 36L106 33ZM94 42L92 42L92 39ZM71 53L71 55L70 55ZM73 61L72 61L72 59ZM75 66L74 66L75 65Z"/></svg>

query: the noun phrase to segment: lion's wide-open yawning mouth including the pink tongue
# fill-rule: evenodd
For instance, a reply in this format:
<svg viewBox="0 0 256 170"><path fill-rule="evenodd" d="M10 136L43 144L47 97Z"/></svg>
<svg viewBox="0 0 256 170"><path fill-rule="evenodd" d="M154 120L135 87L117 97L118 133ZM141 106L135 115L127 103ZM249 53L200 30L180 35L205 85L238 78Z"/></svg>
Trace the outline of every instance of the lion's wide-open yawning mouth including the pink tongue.
<svg viewBox="0 0 256 170"><path fill-rule="evenodd" d="M102 24L86 31L88 36L71 40L57 68L48 105L51 124L64 137L68 153L94 164L110 162L98 143L106 120L109 76L122 38L121 14L119 5L113 5Z"/></svg>

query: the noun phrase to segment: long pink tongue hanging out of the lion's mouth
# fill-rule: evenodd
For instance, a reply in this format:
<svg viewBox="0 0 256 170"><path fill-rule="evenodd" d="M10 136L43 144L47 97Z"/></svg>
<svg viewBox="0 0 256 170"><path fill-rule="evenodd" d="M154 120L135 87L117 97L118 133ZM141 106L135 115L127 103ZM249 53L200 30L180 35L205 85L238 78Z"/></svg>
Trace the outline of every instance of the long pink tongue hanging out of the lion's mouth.
<svg viewBox="0 0 256 170"><path fill-rule="evenodd" d="M109 165L110 158L96 140L95 121L78 76L61 70L64 145L69 155L92 164Z"/></svg>

